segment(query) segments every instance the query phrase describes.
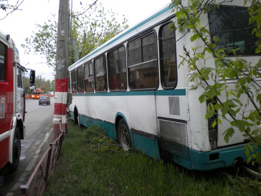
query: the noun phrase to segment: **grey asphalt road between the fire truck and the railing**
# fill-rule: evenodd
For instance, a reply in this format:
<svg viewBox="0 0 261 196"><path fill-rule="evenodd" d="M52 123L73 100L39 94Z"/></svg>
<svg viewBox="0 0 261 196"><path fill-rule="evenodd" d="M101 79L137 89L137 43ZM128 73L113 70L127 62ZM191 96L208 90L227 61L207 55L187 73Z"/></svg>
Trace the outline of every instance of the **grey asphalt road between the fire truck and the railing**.
<svg viewBox="0 0 261 196"><path fill-rule="evenodd" d="M33 158L43 141L52 138L51 128L54 113L54 98L50 105L39 105L38 99L26 99L26 136L21 140L22 151L17 171L0 177L0 196L13 195L21 184L26 184L35 167Z"/></svg>

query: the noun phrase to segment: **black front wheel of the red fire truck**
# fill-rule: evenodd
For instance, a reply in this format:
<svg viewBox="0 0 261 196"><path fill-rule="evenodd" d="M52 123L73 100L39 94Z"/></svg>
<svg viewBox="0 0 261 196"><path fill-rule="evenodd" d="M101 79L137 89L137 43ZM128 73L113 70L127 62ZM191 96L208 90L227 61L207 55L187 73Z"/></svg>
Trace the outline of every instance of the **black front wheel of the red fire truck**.
<svg viewBox="0 0 261 196"><path fill-rule="evenodd" d="M14 141L13 141L13 163L11 164L11 172L16 171L19 165L21 155L21 137L19 128L15 128L15 135L14 135Z"/></svg>

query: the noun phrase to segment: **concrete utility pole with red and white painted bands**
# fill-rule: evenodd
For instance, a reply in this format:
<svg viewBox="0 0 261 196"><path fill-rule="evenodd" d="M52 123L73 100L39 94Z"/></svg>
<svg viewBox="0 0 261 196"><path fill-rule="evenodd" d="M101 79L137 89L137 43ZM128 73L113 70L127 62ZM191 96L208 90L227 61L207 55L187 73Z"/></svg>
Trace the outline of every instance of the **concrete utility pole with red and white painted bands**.
<svg viewBox="0 0 261 196"><path fill-rule="evenodd" d="M56 139L60 120L62 120L62 130L67 130L69 0L60 0L57 32L53 141Z"/></svg>

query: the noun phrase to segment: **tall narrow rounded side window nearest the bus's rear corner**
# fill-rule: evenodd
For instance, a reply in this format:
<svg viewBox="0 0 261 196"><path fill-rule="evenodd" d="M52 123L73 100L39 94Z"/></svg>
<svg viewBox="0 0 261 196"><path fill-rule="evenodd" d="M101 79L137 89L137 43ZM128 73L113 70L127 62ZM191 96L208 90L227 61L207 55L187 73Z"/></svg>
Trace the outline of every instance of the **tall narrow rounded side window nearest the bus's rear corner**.
<svg viewBox="0 0 261 196"><path fill-rule="evenodd" d="M176 38L168 25L160 29L161 82L163 88L173 89L177 84Z"/></svg>

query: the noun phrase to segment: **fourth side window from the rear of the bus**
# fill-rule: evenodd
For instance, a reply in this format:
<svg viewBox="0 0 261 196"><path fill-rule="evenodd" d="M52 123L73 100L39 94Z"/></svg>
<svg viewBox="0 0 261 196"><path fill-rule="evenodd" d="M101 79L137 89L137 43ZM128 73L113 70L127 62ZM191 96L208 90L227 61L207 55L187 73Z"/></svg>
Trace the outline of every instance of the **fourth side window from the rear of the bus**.
<svg viewBox="0 0 261 196"><path fill-rule="evenodd" d="M107 73L106 73L106 58L101 56L94 62L95 65L95 91L107 91Z"/></svg>

